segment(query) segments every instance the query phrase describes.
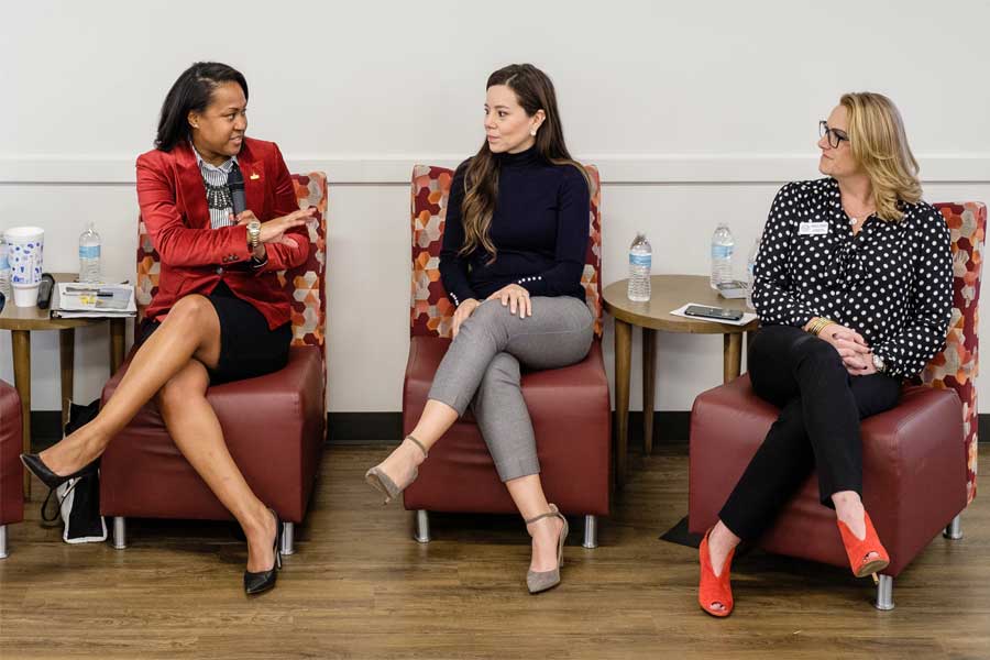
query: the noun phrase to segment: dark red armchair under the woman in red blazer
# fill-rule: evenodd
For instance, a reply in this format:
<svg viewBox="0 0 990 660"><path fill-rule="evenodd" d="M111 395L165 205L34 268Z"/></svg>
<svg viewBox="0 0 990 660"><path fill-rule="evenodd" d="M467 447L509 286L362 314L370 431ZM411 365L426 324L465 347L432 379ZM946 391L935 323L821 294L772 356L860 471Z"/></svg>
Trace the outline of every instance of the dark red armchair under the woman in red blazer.
<svg viewBox="0 0 990 660"><path fill-rule="evenodd" d="M326 265L327 177L293 175L300 208L319 212L309 223L312 250L307 262L279 273L293 298L293 345L285 369L257 378L210 387L230 453L257 496L284 521L284 554L292 554L293 531L306 515L326 438ZM151 301L158 255L141 223L138 246L139 307ZM103 387L113 394L130 364ZM230 519L176 448L155 403L148 402L103 453L100 512L113 517L113 546L125 547L125 518Z"/></svg>

